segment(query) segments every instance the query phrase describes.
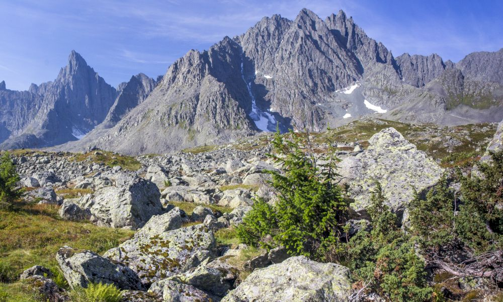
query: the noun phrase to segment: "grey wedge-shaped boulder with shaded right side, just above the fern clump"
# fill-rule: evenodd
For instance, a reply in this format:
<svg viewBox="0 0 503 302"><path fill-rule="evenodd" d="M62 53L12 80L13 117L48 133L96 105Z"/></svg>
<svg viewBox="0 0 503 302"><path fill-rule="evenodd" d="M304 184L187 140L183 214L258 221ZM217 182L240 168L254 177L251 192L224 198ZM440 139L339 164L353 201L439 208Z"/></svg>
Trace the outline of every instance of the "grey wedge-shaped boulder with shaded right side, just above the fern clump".
<svg viewBox="0 0 503 302"><path fill-rule="evenodd" d="M63 247L56 253L56 260L71 288L102 282L120 289L144 289L141 280L129 267L91 251Z"/></svg>

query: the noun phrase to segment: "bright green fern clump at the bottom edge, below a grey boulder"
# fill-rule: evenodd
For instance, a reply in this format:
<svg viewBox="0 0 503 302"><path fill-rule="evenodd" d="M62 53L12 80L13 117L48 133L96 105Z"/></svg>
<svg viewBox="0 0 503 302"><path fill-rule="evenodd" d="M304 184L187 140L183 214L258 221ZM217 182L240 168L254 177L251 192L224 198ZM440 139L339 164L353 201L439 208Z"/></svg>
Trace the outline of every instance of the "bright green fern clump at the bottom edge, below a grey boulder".
<svg viewBox="0 0 503 302"><path fill-rule="evenodd" d="M70 292L73 302L119 302L121 291L113 284L89 283L87 288L80 287Z"/></svg>

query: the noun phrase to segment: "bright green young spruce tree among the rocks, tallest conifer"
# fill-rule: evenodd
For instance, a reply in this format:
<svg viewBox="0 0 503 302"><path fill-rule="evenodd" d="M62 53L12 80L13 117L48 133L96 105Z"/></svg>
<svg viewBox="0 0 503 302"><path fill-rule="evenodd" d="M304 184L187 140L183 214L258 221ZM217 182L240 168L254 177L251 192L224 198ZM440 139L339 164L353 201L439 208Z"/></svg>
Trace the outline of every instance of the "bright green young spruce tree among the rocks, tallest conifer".
<svg viewBox="0 0 503 302"><path fill-rule="evenodd" d="M314 257L342 233L348 204L337 185L338 159L333 149L316 159L308 133L277 132L272 144L274 154L268 156L284 171L268 171L278 200L256 200L237 235L248 245L282 245L291 255Z"/></svg>

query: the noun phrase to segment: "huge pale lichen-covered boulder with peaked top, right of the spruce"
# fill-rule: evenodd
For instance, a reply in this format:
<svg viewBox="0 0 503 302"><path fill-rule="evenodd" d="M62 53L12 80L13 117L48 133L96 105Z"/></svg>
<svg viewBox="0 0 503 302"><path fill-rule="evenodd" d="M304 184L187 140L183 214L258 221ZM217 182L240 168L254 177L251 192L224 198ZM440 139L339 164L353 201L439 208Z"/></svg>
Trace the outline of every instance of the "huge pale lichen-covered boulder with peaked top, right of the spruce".
<svg viewBox="0 0 503 302"><path fill-rule="evenodd" d="M374 134L370 146L355 157L347 157L340 174L350 185L351 207L364 211L378 181L388 205L401 214L413 199L414 188L422 192L434 186L444 173L433 159L418 150L394 128Z"/></svg>

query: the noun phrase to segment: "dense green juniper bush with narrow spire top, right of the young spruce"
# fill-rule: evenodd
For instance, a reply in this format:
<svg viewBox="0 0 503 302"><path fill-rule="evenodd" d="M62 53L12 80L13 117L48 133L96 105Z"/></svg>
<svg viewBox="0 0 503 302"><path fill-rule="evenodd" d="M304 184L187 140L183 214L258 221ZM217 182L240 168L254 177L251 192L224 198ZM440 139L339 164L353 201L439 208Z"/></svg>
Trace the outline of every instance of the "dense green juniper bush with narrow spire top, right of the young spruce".
<svg viewBox="0 0 503 302"><path fill-rule="evenodd" d="M325 257L348 266L357 284L366 284L390 301L429 300L433 291L426 281L425 262L416 255L411 237L396 226L396 215L385 201L377 184L367 209L372 231L360 231L349 242L334 245Z"/></svg>

